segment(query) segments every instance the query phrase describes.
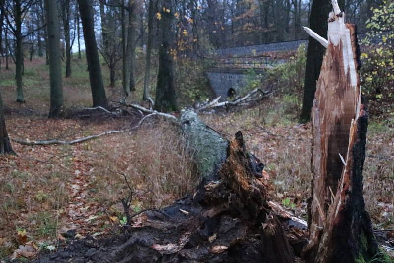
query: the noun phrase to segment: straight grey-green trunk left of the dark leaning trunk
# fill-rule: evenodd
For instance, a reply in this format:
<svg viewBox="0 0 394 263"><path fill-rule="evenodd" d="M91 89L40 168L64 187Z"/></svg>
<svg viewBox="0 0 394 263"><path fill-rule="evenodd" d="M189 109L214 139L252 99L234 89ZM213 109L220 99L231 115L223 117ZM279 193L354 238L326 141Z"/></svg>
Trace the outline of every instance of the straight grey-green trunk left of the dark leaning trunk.
<svg viewBox="0 0 394 263"><path fill-rule="evenodd" d="M63 107L62 67L60 63L60 34L56 1L45 0L49 51L50 108L49 118L59 117Z"/></svg>

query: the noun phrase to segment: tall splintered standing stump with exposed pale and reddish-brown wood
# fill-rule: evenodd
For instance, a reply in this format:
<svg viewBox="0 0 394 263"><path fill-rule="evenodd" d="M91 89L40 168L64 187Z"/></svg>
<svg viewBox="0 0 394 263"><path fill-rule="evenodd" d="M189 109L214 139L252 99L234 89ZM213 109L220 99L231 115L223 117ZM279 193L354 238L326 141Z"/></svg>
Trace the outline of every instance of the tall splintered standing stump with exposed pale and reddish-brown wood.
<svg viewBox="0 0 394 263"><path fill-rule="evenodd" d="M312 196L308 262L366 262L378 252L362 196L367 113L361 104L356 26L332 1L328 40L312 109Z"/></svg>

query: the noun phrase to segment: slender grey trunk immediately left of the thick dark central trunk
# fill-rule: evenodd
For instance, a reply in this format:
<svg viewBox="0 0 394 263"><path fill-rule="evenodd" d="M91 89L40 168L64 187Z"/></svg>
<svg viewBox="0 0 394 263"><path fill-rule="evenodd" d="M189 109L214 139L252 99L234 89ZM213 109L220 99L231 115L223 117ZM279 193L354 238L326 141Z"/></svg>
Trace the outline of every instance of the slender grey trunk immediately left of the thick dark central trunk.
<svg viewBox="0 0 394 263"><path fill-rule="evenodd" d="M154 0L149 0L148 8L149 8L148 9L148 41L146 44L144 93L142 96L143 100L150 99L149 80L150 80L150 72L151 72L151 53L152 53L152 43L153 43L153 19L156 11L156 3L154 3Z"/></svg>

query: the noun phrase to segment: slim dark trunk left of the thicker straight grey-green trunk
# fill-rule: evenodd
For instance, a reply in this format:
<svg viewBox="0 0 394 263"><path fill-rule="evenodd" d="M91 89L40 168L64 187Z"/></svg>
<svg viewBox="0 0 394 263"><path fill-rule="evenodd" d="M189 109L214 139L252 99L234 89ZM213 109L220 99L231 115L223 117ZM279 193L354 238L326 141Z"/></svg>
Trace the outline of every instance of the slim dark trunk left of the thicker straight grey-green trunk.
<svg viewBox="0 0 394 263"><path fill-rule="evenodd" d="M15 0L15 79L16 79L16 102L25 103L22 87L23 74L23 46L22 46L22 10L21 1Z"/></svg>

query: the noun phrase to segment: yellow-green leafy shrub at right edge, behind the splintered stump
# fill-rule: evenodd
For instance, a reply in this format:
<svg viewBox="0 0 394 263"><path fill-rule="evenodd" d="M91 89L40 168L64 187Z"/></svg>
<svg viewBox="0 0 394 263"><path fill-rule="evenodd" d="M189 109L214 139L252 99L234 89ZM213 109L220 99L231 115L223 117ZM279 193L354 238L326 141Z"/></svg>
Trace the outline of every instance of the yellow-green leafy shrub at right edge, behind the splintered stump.
<svg viewBox="0 0 394 263"><path fill-rule="evenodd" d="M362 40L361 85L372 113L385 118L394 109L394 2L383 1L372 11Z"/></svg>

